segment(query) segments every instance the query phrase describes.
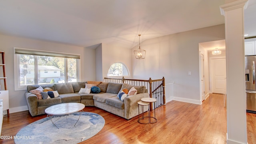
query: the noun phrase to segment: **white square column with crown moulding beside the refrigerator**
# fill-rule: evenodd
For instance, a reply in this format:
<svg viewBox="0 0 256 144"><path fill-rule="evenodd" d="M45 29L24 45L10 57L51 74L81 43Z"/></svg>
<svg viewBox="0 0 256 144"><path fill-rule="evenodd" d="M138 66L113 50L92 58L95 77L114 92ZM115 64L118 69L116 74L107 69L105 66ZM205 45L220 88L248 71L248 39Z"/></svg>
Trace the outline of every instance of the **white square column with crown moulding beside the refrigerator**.
<svg viewBox="0 0 256 144"><path fill-rule="evenodd" d="M246 2L247 0L236 0L220 6L225 16L226 31L227 144L247 144L244 70Z"/></svg>

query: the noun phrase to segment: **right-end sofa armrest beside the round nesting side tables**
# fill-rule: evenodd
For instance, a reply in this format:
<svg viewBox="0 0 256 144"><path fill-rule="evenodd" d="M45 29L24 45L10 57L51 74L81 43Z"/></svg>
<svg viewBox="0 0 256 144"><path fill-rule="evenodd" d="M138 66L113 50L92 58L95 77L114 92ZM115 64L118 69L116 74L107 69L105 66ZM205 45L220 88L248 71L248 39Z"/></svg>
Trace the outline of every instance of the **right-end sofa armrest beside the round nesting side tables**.
<svg viewBox="0 0 256 144"><path fill-rule="evenodd" d="M133 96L127 96L124 98L124 116L126 119L130 119L138 115L138 102L141 98L148 98L148 93L140 93Z"/></svg>

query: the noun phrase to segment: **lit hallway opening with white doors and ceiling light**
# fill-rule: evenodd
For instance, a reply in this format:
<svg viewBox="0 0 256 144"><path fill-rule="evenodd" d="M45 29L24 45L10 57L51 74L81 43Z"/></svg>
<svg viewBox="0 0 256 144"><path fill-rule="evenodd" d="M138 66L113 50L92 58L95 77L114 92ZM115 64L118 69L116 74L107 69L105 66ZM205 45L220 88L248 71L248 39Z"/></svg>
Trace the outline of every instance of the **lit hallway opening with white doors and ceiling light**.
<svg viewBox="0 0 256 144"><path fill-rule="evenodd" d="M220 50L219 54L214 53L213 51ZM203 60L202 60L203 57ZM224 59L219 59L224 58ZM215 68L217 70L214 71L215 80L214 80L214 89L218 89L219 91L212 91L213 89L213 78L212 78L212 60L214 61ZM211 60L211 62L210 62ZM219 61L218 61L219 60ZM203 63L202 63L203 62ZM199 43L199 64L200 64L200 100L201 102L210 96L210 93L220 93L225 94L226 92L226 41L225 40L217 40L212 42L202 42ZM204 66L204 71L202 70ZM222 69L222 70L218 70ZM219 76L221 75L221 76ZM204 90L204 96L203 96Z"/></svg>

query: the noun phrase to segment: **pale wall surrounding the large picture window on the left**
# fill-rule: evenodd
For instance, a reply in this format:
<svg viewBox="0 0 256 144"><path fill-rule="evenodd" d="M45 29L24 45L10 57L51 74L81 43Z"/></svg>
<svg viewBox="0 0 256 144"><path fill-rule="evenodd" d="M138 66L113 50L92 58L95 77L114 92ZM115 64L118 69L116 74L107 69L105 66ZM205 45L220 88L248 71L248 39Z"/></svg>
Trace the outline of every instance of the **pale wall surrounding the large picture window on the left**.
<svg viewBox="0 0 256 144"><path fill-rule="evenodd" d="M83 72L82 74L80 74L80 80L84 81L86 78L90 77L92 78L92 80L95 80L95 75L92 74L92 72L95 72L95 68L93 68L92 64L90 64L93 63L95 59L89 60L90 62L88 62L88 58L86 58L86 56L94 55L94 50L88 50L79 46L70 46L66 44L46 42L14 36L5 36L0 34L0 50L5 52L6 77L7 88L9 90L10 112L27 109L27 104L24 96L26 90L14 91L14 47L80 54L80 71ZM92 72L84 72L88 71L88 69L92 69ZM3 80L1 81L1 85L2 84Z"/></svg>

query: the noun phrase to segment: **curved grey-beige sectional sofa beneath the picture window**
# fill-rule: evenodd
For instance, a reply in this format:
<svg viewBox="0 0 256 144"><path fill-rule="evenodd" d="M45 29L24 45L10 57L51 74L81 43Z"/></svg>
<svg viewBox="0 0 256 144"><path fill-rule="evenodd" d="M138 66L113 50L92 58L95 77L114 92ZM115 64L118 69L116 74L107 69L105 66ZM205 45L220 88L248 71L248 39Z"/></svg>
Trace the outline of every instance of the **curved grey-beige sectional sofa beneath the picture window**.
<svg viewBox="0 0 256 144"><path fill-rule="evenodd" d="M121 89L127 88L130 90L133 86L130 84L108 83L102 82L97 85L100 88L98 94L83 94L78 93L80 88L85 88L87 82L71 82L51 85L29 85L27 86L27 92L25 93L28 110L31 116L37 116L45 114L44 110L50 106L67 103L67 102L79 102L85 106L96 106L118 116L126 119L133 118L138 115L138 101L141 98L149 97L148 91L145 86L134 86L137 90L137 94L133 96L127 96L122 102L118 97L118 92ZM58 91L59 96L49 99L40 99L29 92L38 87L51 88L54 91ZM147 108L144 108L147 110ZM86 110L85 110L86 111Z"/></svg>

